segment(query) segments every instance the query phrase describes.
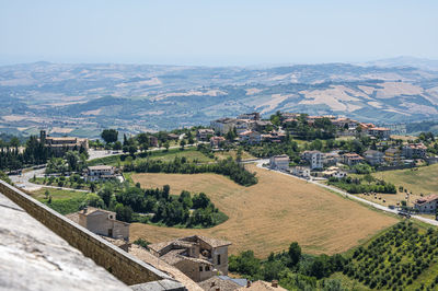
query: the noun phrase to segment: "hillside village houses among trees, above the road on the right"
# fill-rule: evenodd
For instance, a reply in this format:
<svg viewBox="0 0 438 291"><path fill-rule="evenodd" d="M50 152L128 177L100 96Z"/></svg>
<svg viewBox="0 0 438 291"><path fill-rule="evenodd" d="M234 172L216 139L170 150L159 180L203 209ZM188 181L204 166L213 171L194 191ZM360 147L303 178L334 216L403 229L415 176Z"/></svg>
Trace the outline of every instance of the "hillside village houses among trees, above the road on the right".
<svg viewBox="0 0 438 291"><path fill-rule="evenodd" d="M403 141L392 137L389 128L332 115L309 116L277 113L269 120L262 120L258 113L252 113L240 115L237 118L212 120L210 127L210 129L198 129L197 136L199 140L206 140L206 136L209 136L210 147L216 150L238 143L251 151L251 148L257 146L285 144L293 138L302 137L313 141L310 143L310 148L320 149L296 152L293 159L286 153L268 156L270 168L306 179L349 182L347 179L349 174L415 168L422 164L438 162L435 149L426 147L420 139ZM312 130L314 131L312 132ZM321 149L323 147L320 139L349 140L353 141L353 144L356 143L356 148L354 146L347 149L341 144L341 147L336 147L332 141L331 147ZM385 185L384 182L381 183ZM371 193L373 191L379 190L371 190ZM392 185L390 190L383 189L381 193L395 193L395 187ZM377 197L374 196L374 198ZM435 213L437 202L438 199L435 195L422 197L414 201L412 210ZM396 207L400 206L402 205L397 202Z"/></svg>

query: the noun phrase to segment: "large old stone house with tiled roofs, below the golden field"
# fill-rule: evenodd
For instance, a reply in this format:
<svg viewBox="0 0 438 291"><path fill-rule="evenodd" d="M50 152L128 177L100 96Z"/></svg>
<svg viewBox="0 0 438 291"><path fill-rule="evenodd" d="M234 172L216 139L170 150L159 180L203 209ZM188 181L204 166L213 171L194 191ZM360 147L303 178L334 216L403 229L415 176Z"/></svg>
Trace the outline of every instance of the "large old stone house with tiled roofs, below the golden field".
<svg viewBox="0 0 438 291"><path fill-rule="evenodd" d="M228 275L228 246L230 242L193 235L149 245L150 252L162 260L199 282L218 271Z"/></svg>

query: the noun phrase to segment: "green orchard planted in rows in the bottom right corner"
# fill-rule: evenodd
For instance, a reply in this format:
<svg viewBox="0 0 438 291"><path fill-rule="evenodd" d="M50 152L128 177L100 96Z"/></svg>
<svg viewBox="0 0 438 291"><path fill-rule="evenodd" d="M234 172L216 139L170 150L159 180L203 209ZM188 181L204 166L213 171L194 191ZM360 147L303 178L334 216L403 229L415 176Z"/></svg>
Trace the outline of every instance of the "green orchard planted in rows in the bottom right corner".
<svg viewBox="0 0 438 291"><path fill-rule="evenodd" d="M401 222L368 247L357 248L343 272L371 289L405 290L437 263L437 246L436 230L420 234L411 222Z"/></svg>

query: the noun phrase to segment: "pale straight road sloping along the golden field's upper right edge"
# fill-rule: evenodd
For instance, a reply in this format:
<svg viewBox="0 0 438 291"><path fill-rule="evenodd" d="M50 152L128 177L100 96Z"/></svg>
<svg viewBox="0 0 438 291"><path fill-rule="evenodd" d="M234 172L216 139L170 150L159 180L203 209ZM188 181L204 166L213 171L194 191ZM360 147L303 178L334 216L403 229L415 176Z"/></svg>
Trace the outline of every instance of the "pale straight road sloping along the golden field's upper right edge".
<svg viewBox="0 0 438 291"><path fill-rule="evenodd" d="M258 161L256 161L256 165L257 165L257 167L262 167L262 168L265 168L265 170L266 170L266 167L263 167L263 164L268 163L268 162L269 162L269 160L258 160ZM338 194L341 194L341 195L343 195L343 196L345 196L345 197L347 197L347 198L355 199L355 200L360 201L360 202L362 202L362 203L369 205L369 206L371 206L371 207L373 207L373 208L376 208L376 209L379 209L379 210L381 210L381 211L385 211L385 212L393 213L393 214L397 214L397 212L399 212L396 209L389 209L389 208L385 207L385 206L382 206L382 205L379 205L379 203L369 201L369 200L367 200L367 199L357 197L357 196L355 196L355 195L351 195L351 194L349 194L349 193L346 193L346 191L341 190L341 189L338 189L338 188L335 188L335 187L333 187L333 186L328 186L328 185L325 185L325 184L321 184L321 183L319 183L319 182L316 182L316 181L300 178L300 177L297 177L297 176L293 176L293 175L290 175L290 174L288 174L288 173L284 173L284 172L280 172L280 171L276 171L276 170L268 170L268 171L275 171L275 172L277 172L278 174L286 175L286 176L291 177L291 178L297 178L297 179L306 181L306 182L308 182L308 183L312 183L312 184L314 184L314 185L316 185L316 186L319 186L319 187L326 188L326 189L328 189L328 190L338 193ZM412 218L413 218L413 219L417 219L417 220L423 221L423 222L426 222L426 223L428 223L428 224L438 226L438 221L436 221L436 220L427 219L427 218L424 218L424 217L420 217L420 216L412 216Z"/></svg>

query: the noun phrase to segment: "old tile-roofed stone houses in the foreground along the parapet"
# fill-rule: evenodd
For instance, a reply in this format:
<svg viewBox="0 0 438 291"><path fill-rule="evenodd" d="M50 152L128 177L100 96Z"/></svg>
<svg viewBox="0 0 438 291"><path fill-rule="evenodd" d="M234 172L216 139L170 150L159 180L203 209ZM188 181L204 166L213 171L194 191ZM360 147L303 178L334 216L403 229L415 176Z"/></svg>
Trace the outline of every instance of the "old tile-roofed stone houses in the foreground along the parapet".
<svg viewBox="0 0 438 291"><path fill-rule="evenodd" d="M125 252L130 252L129 223L116 220L115 212L88 207L67 214L67 218ZM279 287L277 281L251 282L243 278L230 278L228 276L230 245L228 241L192 235L150 244L148 251L160 261L183 272L204 290L286 290Z"/></svg>

